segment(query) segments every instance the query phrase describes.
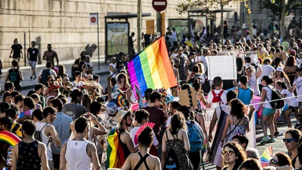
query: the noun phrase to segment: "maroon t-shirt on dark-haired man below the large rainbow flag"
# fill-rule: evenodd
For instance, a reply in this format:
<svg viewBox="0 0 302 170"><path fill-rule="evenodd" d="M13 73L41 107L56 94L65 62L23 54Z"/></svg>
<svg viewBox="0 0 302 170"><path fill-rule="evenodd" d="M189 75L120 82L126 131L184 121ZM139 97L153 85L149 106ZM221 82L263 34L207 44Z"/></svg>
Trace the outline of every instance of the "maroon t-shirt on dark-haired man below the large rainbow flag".
<svg viewBox="0 0 302 170"><path fill-rule="evenodd" d="M162 109L159 109L157 107L144 107L144 110L147 110L149 112L149 122L152 122L155 124L153 127L153 131L155 133L156 139L158 140L159 144L162 143L162 137L160 136L161 124L165 124L164 122L167 120L167 117L165 116L165 112Z"/></svg>

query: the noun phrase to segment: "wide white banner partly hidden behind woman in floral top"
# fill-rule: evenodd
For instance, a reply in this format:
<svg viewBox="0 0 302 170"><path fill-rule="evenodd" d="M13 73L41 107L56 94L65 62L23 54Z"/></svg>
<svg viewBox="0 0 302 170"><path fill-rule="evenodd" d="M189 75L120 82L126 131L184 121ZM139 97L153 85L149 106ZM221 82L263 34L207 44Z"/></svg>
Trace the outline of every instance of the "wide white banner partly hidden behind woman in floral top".
<svg viewBox="0 0 302 170"><path fill-rule="evenodd" d="M214 108L206 108L206 114L204 116L204 125L207 129L207 132L208 134L210 133L209 132L209 129L210 129L210 123L211 123L211 120L212 120L212 117L213 117L213 114L214 114ZM249 110L248 110L248 113L249 113ZM252 120L249 121L249 132L246 133L246 136L247 138L249 139L249 144L248 144L248 147L249 148L256 148L256 129L255 129L255 113L253 113L252 115ZM214 140L214 137L215 137L215 133L216 133L216 130L217 130L217 122L215 124L215 127L213 129L213 132L212 132L212 141ZM221 139L219 139L221 140ZM212 142L210 142L210 145L212 146Z"/></svg>

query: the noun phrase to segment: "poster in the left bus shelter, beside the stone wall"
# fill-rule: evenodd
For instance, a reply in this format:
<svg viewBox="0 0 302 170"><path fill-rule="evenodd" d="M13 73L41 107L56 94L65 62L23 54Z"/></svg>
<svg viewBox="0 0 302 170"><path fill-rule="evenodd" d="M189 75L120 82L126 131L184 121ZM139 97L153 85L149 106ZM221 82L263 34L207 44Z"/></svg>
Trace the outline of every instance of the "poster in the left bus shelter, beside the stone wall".
<svg viewBox="0 0 302 170"><path fill-rule="evenodd" d="M107 23L107 53L114 55L118 52L128 54L128 23Z"/></svg>

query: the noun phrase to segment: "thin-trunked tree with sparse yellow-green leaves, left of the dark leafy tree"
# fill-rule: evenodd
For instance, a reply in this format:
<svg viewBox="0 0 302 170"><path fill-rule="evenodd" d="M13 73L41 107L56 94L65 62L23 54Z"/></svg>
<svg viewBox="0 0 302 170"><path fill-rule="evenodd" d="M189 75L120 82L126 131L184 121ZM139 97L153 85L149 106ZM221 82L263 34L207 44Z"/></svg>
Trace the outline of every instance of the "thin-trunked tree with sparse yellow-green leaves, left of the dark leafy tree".
<svg viewBox="0 0 302 170"><path fill-rule="evenodd" d="M230 2L243 2L246 0L185 0L184 2L178 4L177 11L179 14L185 13L191 8L196 7L203 7L206 9L209 8L216 8L217 6L220 6L221 10L221 29L220 29L220 37L221 37L221 44L223 44L223 7L225 5L229 5ZM209 10L205 10L204 13L210 13Z"/></svg>

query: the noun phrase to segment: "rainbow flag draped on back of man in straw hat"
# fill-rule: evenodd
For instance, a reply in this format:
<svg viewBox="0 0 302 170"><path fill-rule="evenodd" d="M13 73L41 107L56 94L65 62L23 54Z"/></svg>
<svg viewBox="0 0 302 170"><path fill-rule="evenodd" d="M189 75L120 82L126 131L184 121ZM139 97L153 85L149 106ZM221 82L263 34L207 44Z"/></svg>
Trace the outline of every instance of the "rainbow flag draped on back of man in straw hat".
<svg viewBox="0 0 302 170"><path fill-rule="evenodd" d="M107 168L121 168L125 163L122 146L118 143L117 129L111 129L108 134Z"/></svg>

